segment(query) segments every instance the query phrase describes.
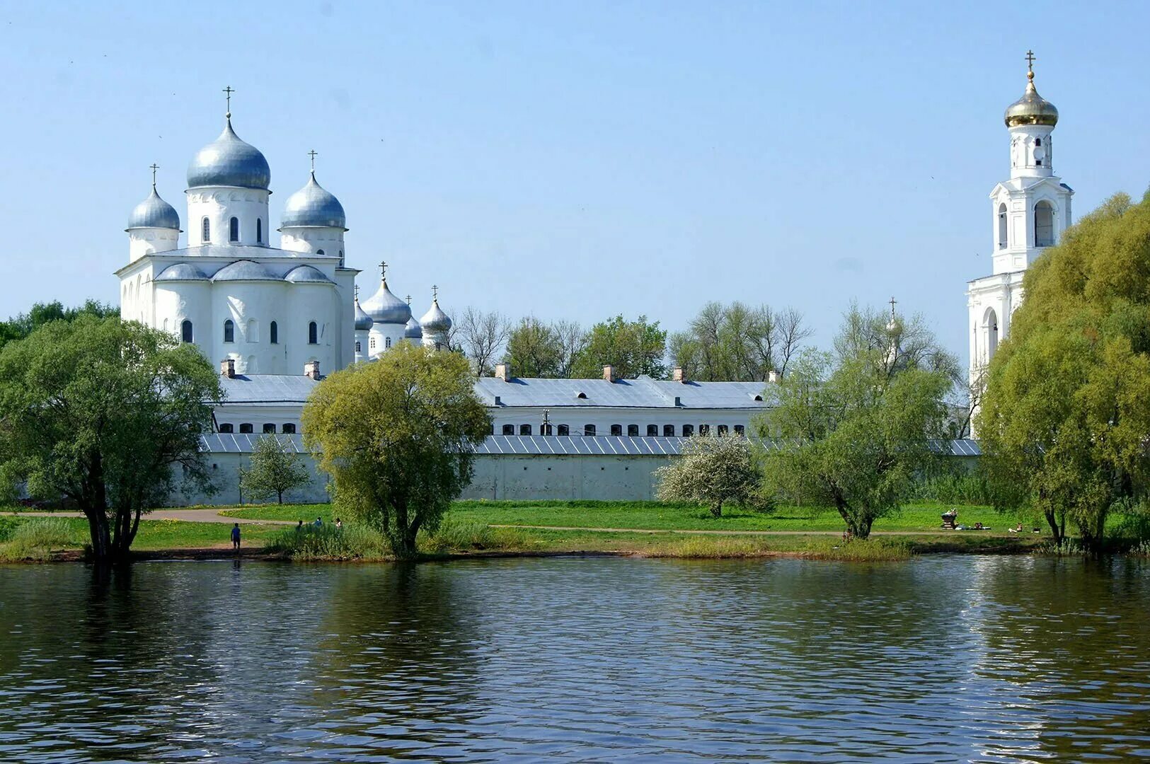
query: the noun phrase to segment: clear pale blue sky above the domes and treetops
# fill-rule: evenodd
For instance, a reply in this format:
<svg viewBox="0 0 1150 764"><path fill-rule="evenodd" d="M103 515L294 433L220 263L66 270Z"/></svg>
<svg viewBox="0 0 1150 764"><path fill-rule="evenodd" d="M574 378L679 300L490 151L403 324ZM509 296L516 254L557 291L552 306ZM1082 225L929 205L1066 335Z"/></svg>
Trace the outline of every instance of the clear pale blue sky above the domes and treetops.
<svg viewBox="0 0 1150 764"><path fill-rule="evenodd" d="M743 300L826 345L895 295L965 358L1027 48L1075 216L1150 182L1147 5L160 5L0 7L0 315L116 300L147 165L184 219L225 85L273 221L315 148L360 284L384 258L419 312L432 283L585 324Z"/></svg>

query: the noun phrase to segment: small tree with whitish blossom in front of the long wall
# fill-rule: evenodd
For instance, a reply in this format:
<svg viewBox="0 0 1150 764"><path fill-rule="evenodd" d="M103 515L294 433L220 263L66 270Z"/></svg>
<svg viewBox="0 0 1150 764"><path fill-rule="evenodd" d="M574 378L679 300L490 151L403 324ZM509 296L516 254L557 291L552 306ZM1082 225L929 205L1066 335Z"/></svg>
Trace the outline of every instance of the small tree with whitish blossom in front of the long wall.
<svg viewBox="0 0 1150 764"><path fill-rule="evenodd" d="M683 441L682 454L657 471L659 499L705 506L714 517L723 504L749 504L760 476L743 435L700 435Z"/></svg>

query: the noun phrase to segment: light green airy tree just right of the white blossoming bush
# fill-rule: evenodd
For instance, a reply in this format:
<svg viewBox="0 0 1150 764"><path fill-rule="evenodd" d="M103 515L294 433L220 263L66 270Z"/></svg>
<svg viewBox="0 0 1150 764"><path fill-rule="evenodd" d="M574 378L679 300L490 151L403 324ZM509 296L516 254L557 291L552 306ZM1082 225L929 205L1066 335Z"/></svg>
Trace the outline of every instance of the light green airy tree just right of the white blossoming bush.
<svg viewBox="0 0 1150 764"><path fill-rule="evenodd" d="M867 538L933 468L957 365L921 319L852 307L835 352L803 353L760 419L773 443L768 487L835 508L851 534Z"/></svg>

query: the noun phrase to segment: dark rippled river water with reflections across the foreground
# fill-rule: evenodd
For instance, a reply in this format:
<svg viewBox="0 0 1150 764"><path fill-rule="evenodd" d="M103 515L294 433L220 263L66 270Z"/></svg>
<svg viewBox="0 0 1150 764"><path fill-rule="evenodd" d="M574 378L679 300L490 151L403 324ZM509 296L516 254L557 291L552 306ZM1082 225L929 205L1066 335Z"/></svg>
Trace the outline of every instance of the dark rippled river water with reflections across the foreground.
<svg viewBox="0 0 1150 764"><path fill-rule="evenodd" d="M1150 564L0 568L0 759L1150 756Z"/></svg>

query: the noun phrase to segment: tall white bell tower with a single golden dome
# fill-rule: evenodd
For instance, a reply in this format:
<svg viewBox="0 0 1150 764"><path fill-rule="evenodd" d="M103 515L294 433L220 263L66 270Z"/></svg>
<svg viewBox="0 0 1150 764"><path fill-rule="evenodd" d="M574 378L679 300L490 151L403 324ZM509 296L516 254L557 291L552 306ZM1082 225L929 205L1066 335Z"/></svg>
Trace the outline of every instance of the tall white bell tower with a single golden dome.
<svg viewBox="0 0 1150 764"><path fill-rule="evenodd" d="M1022 275L1071 224L1074 190L1055 175L1050 133L1058 109L1034 87L1034 54L1022 98L1006 107L1010 179L990 192L994 273L974 279L966 292L969 314L971 384L980 387L998 341L1010 332L1011 315L1022 302Z"/></svg>

